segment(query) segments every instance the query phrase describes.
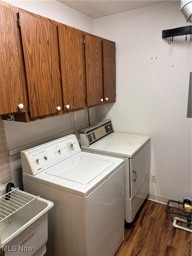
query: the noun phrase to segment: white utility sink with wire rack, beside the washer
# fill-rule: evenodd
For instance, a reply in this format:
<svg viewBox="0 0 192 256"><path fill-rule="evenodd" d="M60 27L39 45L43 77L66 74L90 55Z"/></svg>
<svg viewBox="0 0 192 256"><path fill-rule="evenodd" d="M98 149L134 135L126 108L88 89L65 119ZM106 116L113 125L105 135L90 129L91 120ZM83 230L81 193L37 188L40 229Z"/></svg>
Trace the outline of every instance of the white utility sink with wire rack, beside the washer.
<svg viewBox="0 0 192 256"><path fill-rule="evenodd" d="M13 190L14 189L12 188L12 191ZM20 195L27 195L23 191L17 191L20 193L17 198L22 199ZM5 195L5 193L6 186L0 185L0 197ZM6 256L41 256L46 252L46 242L48 237L48 210L53 207L53 202L40 197L35 198L33 195L31 196L34 199L26 203L22 208L15 206L17 211L14 213L11 211L13 210L11 206L14 206L14 201L0 200L0 212L5 214L3 210L6 210L6 208L3 208L3 206L7 206L8 210L6 211L12 213L11 215L7 214L8 217L5 219L2 219L3 215L0 215L0 236ZM14 198L12 194L11 198ZM17 202L20 202L20 199L15 201L16 204L19 204Z"/></svg>

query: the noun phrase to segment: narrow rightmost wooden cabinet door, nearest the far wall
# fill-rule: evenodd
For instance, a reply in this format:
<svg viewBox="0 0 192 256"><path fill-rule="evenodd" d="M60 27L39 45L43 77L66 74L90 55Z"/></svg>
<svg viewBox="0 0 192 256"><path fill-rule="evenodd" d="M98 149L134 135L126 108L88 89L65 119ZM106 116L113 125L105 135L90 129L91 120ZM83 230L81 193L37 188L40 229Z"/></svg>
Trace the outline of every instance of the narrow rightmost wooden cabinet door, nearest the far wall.
<svg viewBox="0 0 192 256"><path fill-rule="evenodd" d="M105 102L115 101L115 43L103 41L103 85Z"/></svg>

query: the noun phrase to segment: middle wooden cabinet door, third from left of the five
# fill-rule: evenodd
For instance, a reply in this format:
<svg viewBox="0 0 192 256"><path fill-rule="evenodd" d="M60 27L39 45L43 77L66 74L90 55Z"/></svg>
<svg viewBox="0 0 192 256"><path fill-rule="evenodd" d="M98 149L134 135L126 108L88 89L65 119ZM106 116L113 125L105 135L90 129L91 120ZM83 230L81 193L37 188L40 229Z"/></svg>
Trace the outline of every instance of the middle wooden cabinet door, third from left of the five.
<svg viewBox="0 0 192 256"><path fill-rule="evenodd" d="M83 108L85 67L81 32L62 26L58 26L58 31L64 109Z"/></svg>

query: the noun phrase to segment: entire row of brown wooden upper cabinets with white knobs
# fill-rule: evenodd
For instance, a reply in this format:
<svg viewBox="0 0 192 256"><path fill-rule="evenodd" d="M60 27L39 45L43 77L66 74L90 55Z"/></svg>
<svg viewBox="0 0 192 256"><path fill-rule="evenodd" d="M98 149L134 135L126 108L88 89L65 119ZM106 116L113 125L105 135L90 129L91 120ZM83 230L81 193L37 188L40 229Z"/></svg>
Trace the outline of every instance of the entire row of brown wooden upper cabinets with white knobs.
<svg viewBox="0 0 192 256"><path fill-rule="evenodd" d="M30 122L115 101L114 42L1 0L0 20L0 115Z"/></svg>

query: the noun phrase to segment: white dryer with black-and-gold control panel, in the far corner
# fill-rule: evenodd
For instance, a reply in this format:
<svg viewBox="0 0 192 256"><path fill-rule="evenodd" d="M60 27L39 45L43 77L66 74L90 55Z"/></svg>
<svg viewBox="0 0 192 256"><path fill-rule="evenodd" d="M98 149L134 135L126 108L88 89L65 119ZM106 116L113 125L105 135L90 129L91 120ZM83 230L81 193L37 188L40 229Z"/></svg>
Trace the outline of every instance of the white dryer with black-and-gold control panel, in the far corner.
<svg viewBox="0 0 192 256"><path fill-rule="evenodd" d="M149 193L150 137L114 133L111 120L80 132L84 152L125 160L125 221L132 222Z"/></svg>

